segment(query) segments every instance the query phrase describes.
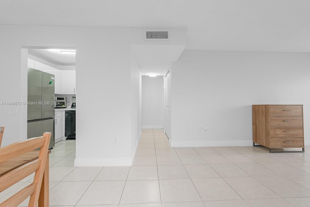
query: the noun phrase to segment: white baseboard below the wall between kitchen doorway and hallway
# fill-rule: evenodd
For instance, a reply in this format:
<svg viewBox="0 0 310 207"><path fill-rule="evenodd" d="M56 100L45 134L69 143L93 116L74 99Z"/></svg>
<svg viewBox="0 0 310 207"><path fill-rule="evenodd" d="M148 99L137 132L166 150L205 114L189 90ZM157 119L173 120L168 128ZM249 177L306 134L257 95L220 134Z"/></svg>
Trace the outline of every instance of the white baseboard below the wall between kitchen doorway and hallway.
<svg viewBox="0 0 310 207"><path fill-rule="evenodd" d="M131 158L76 158L75 167L131 166Z"/></svg>

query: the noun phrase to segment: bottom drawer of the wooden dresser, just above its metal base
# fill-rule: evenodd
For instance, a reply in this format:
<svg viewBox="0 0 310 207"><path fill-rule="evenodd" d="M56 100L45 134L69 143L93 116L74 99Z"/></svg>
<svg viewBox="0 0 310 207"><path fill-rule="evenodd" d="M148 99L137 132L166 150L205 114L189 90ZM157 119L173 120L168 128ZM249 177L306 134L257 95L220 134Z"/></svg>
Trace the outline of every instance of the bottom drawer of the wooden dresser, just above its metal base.
<svg viewBox="0 0 310 207"><path fill-rule="evenodd" d="M297 138L271 138L270 148L303 148L304 139Z"/></svg>

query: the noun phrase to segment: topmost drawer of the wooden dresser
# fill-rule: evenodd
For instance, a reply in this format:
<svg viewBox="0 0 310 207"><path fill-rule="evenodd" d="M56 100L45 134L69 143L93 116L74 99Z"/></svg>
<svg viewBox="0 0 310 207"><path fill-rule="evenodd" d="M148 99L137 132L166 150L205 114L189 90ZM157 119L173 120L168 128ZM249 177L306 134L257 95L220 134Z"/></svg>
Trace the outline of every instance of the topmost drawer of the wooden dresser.
<svg viewBox="0 0 310 207"><path fill-rule="evenodd" d="M301 105L271 105L270 114L279 116L302 116Z"/></svg>

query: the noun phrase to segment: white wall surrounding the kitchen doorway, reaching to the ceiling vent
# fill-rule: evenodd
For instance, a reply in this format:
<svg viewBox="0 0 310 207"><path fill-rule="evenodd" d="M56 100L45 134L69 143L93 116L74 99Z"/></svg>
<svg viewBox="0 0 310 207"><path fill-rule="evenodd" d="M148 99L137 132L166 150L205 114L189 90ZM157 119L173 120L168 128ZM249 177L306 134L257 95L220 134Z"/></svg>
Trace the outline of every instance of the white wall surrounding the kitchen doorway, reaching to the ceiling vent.
<svg viewBox="0 0 310 207"><path fill-rule="evenodd" d="M27 101L27 73L23 71L27 68L27 51L22 48L75 47L75 165L131 165L132 143L139 139L141 125L140 80L137 68L131 68L131 45L146 44L144 29L1 25L0 31L0 57L4 57L0 59L0 101ZM171 33L176 38L164 44L186 42L186 30ZM90 105L94 98L96 103ZM3 146L26 139L27 107L0 105L0 126L5 126Z"/></svg>

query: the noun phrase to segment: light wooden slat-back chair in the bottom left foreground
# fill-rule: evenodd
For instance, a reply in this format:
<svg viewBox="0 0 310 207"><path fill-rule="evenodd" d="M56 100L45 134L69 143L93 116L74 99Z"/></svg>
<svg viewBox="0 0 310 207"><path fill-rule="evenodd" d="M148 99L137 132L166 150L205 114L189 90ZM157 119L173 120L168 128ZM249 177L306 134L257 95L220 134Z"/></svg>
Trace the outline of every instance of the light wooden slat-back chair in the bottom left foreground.
<svg viewBox="0 0 310 207"><path fill-rule="evenodd" d="M27 152L31 152L34 149L40 148L38 159L19 166L18 168L0 177L0 192L2 192L21 179L35 172L33 182L2 202L0 207L17 207L29 196L30 200L28 207L37 207L43 173L47 161L47 151L50 137L51 133L44 133L43 136L34 137L0 148L0 162L11 160L18 156L24 155Z"/></svg>

